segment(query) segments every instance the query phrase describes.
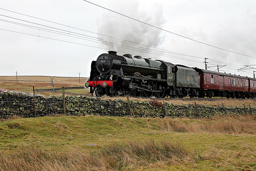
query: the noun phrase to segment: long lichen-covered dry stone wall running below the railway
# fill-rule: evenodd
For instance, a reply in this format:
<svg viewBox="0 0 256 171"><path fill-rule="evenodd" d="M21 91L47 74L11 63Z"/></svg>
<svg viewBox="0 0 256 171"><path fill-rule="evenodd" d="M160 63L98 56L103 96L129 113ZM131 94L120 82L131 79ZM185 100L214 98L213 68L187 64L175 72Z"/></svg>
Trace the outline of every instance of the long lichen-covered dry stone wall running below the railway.
<svg viewBox="0 0 256 171"><path fill-rule="evenodd" d="M210 117L213 115L256 115L256 108L225 108L210 105L176 105L161 101L135 101L122 99L102 100L87 96L65 96L66 115L122 116L122 117ZM130 104L130 108L129 108ZM27 117L56 116L63 114L63 98L50 96L30 97L22 94L0 93L0 118L13 115Z"/></svg>

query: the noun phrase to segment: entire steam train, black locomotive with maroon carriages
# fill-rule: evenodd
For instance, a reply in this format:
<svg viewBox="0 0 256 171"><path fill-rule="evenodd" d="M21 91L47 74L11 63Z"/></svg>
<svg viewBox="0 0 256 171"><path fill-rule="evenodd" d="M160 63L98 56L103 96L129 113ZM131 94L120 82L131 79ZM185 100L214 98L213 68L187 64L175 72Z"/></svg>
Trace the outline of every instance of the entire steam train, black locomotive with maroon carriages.
<svg viewBox="0 0 256 171"><path fill-rule="evenodd" d="M92 61L85 86L96 96L254 98L256 79L109 51Z"/></svg>

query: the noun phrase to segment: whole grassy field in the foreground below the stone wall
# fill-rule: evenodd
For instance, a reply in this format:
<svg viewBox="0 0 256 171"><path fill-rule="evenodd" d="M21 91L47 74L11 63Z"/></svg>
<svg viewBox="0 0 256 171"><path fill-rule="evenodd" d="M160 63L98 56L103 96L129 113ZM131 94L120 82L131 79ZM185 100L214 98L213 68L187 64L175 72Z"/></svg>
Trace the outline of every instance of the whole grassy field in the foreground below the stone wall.
<svg viewBox="0 0 256 171"><path fill-rule="evenodd" d="M255 170L256 116L0 122L0 170Z"/></svg>

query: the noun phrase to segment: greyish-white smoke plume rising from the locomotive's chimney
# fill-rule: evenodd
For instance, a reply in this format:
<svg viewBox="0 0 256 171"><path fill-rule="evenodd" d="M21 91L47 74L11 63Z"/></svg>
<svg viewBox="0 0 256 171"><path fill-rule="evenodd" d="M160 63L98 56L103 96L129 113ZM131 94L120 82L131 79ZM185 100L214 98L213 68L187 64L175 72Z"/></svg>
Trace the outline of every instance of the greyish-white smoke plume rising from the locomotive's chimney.
<svg viewBox="0 0 256 171"><path fill-rule="evenodd" d="M143 9L140 8L142 6ZM156 27L161 28L165 23L161 4L139 4L137 0L132 0L125 3L123 1L117 1L112 7L111 10L113 11ZM145 46L157 47L164 40L160 29L111 11L106 11L98 16L97 26L99 34L109 36L99 36L103 41L109 43L108 45L104 45L104 47L117 52L141 54L141 52L134 51L133 48L138 50L145 48Z"/></svg>

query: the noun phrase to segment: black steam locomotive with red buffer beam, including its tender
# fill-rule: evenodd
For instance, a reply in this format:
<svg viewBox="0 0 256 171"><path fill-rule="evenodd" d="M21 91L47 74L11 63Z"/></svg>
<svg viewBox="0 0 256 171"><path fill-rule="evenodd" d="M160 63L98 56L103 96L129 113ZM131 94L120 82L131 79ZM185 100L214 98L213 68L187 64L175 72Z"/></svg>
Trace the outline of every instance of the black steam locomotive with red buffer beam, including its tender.
<svg viewBox="0 0 256 171"><path fill-rule="evenodd" d="M96 96L196 97L200 92L200 76L182 65L130 54L119 56L109 51L92 61L86 87Z"/></svg>

